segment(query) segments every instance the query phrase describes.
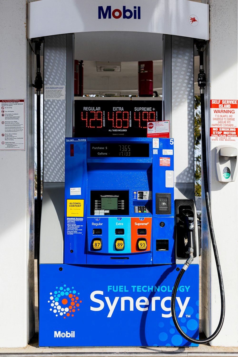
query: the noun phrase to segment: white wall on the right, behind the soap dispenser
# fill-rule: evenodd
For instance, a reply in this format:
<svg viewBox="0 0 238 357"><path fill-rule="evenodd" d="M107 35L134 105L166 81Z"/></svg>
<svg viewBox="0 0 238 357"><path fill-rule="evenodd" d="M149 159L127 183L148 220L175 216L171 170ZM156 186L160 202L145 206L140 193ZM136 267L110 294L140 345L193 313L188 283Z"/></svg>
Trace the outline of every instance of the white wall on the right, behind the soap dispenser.
<svg viewBox="0 0 238 357"><path fill-rule="evenodd" d="M205 2L205 1L204 1ZM237 74L237 0L210 0L210 42L206 48L207 86L205 89L207 133L212 122L209 117L210 99L238 99ZM208 134L208 142L210 141ZM208 147L209 187L214 232L225 288L226 315L224 325L213 346L238 346L238 178L236 182L221 183L216 179L214 147ZM237 146L236 142L224 142ZM202 325L207 336L216 330L220 318L221 298L211 241L206 225L206 208L202 206ZM211 262L211 264L210 264Z"/></svg>

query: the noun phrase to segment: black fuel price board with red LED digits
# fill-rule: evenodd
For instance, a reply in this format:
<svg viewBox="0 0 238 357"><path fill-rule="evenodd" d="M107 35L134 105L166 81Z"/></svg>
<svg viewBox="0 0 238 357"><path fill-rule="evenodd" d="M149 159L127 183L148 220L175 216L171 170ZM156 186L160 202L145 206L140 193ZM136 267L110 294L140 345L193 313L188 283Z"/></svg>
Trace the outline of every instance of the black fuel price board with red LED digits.
<svg viewBox="0 0 238 357"><path fill-rule="evenodd" d="M162 101L75 100L74 137L146 137L162 120Z"/></svg>

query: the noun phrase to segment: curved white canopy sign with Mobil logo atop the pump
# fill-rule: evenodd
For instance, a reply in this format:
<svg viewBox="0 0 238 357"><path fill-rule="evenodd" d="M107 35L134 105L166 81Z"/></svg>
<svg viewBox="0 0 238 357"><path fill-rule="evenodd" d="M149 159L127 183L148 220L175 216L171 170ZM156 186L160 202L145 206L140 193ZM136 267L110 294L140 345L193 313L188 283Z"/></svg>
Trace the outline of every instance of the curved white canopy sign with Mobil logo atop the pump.
<svg viewBox="0 0 238 357"><path fill-rule="evenodd" d="M209 39L209 7L195 1L41 0L28 6L29 38L133 31Z"/></svg>

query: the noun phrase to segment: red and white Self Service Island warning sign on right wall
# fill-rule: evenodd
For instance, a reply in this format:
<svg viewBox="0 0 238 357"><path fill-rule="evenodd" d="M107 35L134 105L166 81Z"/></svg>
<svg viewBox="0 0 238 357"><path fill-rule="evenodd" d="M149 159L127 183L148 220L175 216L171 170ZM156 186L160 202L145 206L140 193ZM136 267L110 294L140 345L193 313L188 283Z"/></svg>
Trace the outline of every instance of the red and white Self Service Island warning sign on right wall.
<svg viewBox="0 0 238 357"><path fill-rule="evenodd" d="M211 99L211 127L212 142L236 142L238 137L236 99Z"/></svg>

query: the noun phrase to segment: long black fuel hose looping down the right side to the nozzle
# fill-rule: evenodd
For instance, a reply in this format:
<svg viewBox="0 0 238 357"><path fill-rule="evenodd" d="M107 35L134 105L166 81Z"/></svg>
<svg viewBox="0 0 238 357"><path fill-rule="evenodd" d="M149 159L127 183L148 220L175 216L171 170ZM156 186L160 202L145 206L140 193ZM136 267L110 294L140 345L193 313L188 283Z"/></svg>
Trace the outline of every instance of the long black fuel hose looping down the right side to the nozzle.
<svg viewBox="0 0 238 357"><path fill-rule="evenodd" d="M186 263L184 264L184 266L182 267L182 269L180 270L180 272L177 276L176 282L174 284L172 298L171 298L171 312L172 312L172 318L173 318L174 325L177 328L180 335L182 337L184 337L187 341L193 342L193 343L207 343L209 341L212 341L213 338L215 338L218 335L218 333L221 331L221 328L222 328L222 325L224 322L224 316L225 316L224 286L223 286L221 266L220 266L220 262L219 262L218 251L217 251L216 239L215 239L214 230L213 230L211 207L210 207L210 197L209 197L209 191L208 191L205 105L204 105L204 87L206 86L206 74L204 73L204 64L203 64L203 51L204 51L203 46L204 46L204 43L198 42L197 48L198 48L198 53L199 53L199 57L200 57L198 85L200 87L200 95L201 95L203 183L204 183L204 193L205 193L205 198L206 198L207 218L208 218L209 230L210 230L210 234L211 234L212 247L213 247L216 266L217 266L219 287L220 287L220 293L221 293L221 317L220 317L218 326L216 328L216 331L211 336L204 338L203 340L196 340L192 337L187 336L186 333L183 332L183 330L181 329L181 327L178 324L178 320L177 320L176 312L175 312L176 292L177 292L179 282L180 282L184 272L187 270L190 263L193 261L193 253L192 253L193 247L192 247L192 241L191 241L190 247L188 248L188 251L190 252L190 256L189 256L188 260L186 261Z"/></svg>

